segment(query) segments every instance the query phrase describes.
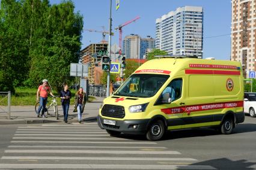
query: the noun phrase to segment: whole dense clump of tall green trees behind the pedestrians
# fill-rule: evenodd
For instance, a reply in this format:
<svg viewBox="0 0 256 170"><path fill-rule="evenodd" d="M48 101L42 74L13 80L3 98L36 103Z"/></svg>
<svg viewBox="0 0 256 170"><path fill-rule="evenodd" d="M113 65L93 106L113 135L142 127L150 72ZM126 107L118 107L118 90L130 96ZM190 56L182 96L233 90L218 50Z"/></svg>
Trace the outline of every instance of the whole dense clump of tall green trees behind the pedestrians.
<svg viewBox="0 0 256 170"><path fill-rule="evenodd" d="M74 10L72 1L1 1L0 90L14 91L22 82L35 86L42 77L54 86L71 79L69 65L78 62L83 26Z"/></svg>

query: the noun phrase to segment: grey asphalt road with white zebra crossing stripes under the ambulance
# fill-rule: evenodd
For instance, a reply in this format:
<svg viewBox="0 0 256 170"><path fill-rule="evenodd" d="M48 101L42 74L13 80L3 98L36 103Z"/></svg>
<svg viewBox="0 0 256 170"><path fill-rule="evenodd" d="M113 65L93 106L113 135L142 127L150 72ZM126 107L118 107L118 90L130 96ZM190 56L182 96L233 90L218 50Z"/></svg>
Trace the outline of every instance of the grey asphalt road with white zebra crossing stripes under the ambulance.
<svg viewBox="0 0 256 170"><path fill-rule="evenodd" d="M0 125L0 169L256 169L256 118L231 135L169 132L162 141L109 136L96 122Z"/></svg>

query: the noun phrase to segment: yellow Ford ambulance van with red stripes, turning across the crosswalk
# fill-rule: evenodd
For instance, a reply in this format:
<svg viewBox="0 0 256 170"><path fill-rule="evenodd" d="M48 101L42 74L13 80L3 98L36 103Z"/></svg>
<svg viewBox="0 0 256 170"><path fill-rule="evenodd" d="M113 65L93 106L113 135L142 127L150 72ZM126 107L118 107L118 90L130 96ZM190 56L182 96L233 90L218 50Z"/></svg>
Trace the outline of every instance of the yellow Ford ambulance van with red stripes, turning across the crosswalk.
<svg viewBox="0 0 256 170"><path fill-rule="evenodd" d="M244 120L241 63L191 57L145 62L103 101L97 117L112 136L144 134L151 141L177 129L229 134Z"/></svg>

